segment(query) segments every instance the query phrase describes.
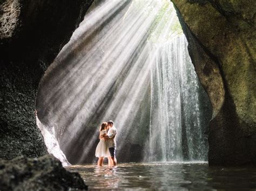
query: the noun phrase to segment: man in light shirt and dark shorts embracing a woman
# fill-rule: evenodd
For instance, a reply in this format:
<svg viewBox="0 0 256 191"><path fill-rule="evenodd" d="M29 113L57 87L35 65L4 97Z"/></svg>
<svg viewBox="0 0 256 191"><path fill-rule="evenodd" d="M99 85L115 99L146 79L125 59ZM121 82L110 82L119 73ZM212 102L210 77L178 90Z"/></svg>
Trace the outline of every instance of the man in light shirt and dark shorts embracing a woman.
<svg viewBox="0 0 256 191"><path fill-rule="evenodd" d="M107 122L107 128L109 128L109 131L107 132L107 135L104 136L104 138L107 139L107 144L109 145L109 152L111 157L108 157L109 160L109 166L117 166L117 159L116 159L116 135L117 135L117 129L114 127L113 121Z"/></svg>

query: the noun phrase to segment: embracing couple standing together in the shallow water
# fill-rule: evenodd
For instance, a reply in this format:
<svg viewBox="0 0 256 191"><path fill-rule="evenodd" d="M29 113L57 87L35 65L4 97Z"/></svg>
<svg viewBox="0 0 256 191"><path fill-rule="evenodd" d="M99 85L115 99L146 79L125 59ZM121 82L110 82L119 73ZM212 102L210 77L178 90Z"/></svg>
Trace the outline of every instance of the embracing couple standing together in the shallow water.
<svg viewBox="0 0 256 191"><path fill-rule="evenodd" d="M116 135L117 129L112 121L104 122L99 129L99 143L95 155L98 157L98 166L103 165L104 157L107 157L109 166L117 166L116 159Z"/></svg>

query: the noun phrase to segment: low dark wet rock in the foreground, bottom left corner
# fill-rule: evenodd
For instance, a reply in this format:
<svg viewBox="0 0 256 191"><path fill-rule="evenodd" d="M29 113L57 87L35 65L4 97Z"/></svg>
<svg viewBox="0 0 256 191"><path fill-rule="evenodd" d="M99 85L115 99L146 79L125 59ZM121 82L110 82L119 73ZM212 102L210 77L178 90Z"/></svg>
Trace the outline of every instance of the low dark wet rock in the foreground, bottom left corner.
<svg viewBox="0 0 256 191"><path fill-rule="evenodd" d="M86 190L78 173L70 173L52 155L29 159L24 155L0 161L1 190Z"/></svg>

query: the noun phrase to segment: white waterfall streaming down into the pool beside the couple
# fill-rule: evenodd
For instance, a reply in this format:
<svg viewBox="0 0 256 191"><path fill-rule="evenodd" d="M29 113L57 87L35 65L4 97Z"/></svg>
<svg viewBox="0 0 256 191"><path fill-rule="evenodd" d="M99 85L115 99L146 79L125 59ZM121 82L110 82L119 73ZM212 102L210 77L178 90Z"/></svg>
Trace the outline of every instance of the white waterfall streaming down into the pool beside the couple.
<svg viewBox="0 0 256 191"><path fill-rule="evenodd" d="M206 160L200 83L185 36L160 44L156 52L151 69L151 160Z"/></svg>

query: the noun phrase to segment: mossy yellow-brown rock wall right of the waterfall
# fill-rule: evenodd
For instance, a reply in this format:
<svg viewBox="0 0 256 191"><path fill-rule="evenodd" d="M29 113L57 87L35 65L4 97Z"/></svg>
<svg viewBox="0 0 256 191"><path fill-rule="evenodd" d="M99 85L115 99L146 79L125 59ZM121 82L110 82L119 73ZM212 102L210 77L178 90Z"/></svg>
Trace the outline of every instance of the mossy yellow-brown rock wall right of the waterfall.
<svg viewBox="0 0 256 191"><path fill-rule="evenodd" d="M255 164L256 2L172 2L213 106L209 164Z"/></svg>

